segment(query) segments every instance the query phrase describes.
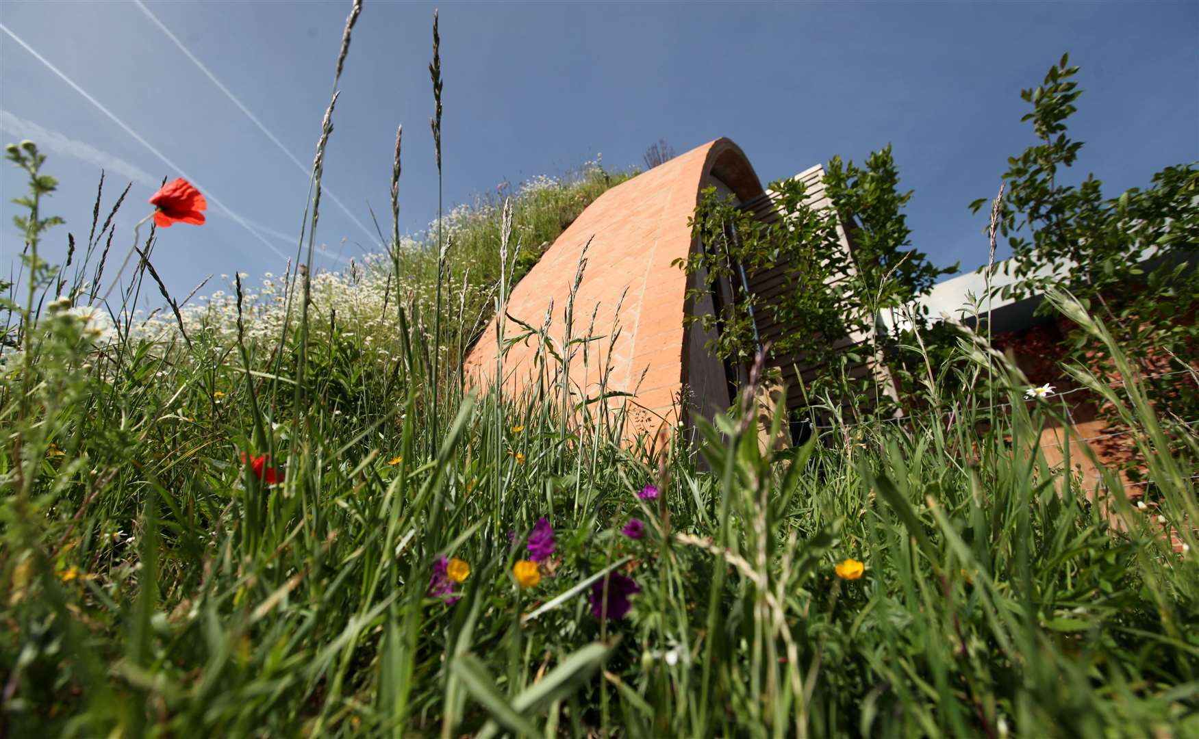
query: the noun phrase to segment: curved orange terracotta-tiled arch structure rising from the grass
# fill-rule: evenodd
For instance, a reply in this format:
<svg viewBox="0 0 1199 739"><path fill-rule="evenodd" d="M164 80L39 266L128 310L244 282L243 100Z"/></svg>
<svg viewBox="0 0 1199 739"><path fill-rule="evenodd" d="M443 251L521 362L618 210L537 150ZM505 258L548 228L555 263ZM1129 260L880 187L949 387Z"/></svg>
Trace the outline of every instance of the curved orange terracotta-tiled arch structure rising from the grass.
<svg viewBox="0 0 1199 739"><path fill-rule="evenodd" d="M570 384L578 394L574 402L596 398L601 389L629 393L619 398L628 404L626 438L663 423L677 423L685 387L692 398L697 384L705 386L709 394L718 388L717 398L727 394L723 367L697 356L705 353L700 327L683 328L683 315L691 310L686 292L693 278L673 264L695 247L687 222L700 190L710 184L733 192L742 201L763 194L757 174L736 144L729 139L704 144L597 198L516 285L505 307L510 316L532 327L542 327L549 317L548 333L559 344L567 333L588 335L594 326L590 335L602 338L588 345L586 367L582 350L570 365ZM584 249L586 264L567 332L565 311ZM508 339L524 331L511 320L505 322ZM537 382L535 357L540 351L536 337L508 349L501 370L506 392L519 393ZM549 364L558 362L550 359ZM493 381L494 317L468 352L465 371L476 387ZM601 384L603 374L607 381ZM701 399L692 401L705 412L707 405Z"/></svg>

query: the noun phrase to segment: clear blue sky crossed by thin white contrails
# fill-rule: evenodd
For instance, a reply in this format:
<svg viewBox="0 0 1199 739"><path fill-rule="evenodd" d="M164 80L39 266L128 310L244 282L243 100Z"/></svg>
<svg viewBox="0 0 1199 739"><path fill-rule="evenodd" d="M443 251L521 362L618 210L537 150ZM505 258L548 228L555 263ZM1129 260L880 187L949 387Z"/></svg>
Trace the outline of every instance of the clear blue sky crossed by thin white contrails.
<svg viewBox="0 0 1199 739"><path fill-rule="evenodd" d="M174 291L209 273L281 272L294 254L307 176L350 4L185 0L0 4L0 23L141 137L131 133L8 34L0 32L0 133L50 155L60 189L48 256L86 232L100 166L106 202L133 189L114 252L163 177L186 172L211 200L203 228L162 231L156 264ZM386 232L392 146L404 125L403 231L436 213L428 119L432 4L366 0L329 146L318 241L343 256ZM610 168L667 139L679 152L725 135L764 182L832 155L862 160L893 144L916 190L914 243L941 265L986 261L982 216L1006 158L1032 143L1022 87L1062 52L1085 93L1071 125L1079 170L1111 195L1199 159L1199 2L446 2L444 164L447 207L602 153ZM162 28L151 19L157 18ZM273 135L188 59L177 38ZM284 151L287 150L287 151ZM296 159L294 160L293 157ZM0 256L20 172L5 163ZM278 250L278 252L276 252ZM1002 256L1002 253L1001 253ZM339 262L323 260L329 267ZM206 291L219 289L211 285Z"/></svg>

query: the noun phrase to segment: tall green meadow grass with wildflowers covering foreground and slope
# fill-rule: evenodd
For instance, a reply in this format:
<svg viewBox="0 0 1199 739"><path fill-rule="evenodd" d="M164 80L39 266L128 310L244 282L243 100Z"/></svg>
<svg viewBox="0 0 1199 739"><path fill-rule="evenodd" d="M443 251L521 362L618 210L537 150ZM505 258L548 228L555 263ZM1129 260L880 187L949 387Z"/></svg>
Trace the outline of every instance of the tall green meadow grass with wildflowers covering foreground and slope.
<svg viewBox="0 0 1199 739"><path fill-rule="evenodd" d="M501 321L501 345L544 349L519 395L434 375L502 308L522 252L610 182L586 172L463 217L476 225L453 237L446 285L468 287L440 340L424 329L440 255L404 244L261 291L239 278L181 309L189 344L175 321L84 310L82 285L55 299L31 260L0 384L7 733L1199 733L1199 447L1170 452L1180 432L1126 364L1119 389L1076 378L1140 431L1152 515L1187 553L1068 459L1049 467L1040 430L1062 411L1023 400L969 332L929 378L966 392L779 452L758 443L753 388L665 444L622 441L616 399L572 402L572 356L603 378L589 346L619 327ZM1052 299L1120 362L1102 323ZM972 392L992 374L1008 413ZM282 481L241 453L270 454ZM513 564L541 517L556 550L523 588ZM641 538L622 533L631 517ZM450 598L429 595L441 557L471 568ZM846 558L861 579L836 574ZM600 619L591 600L611 605L617 574L639 592Z"/></svg>

